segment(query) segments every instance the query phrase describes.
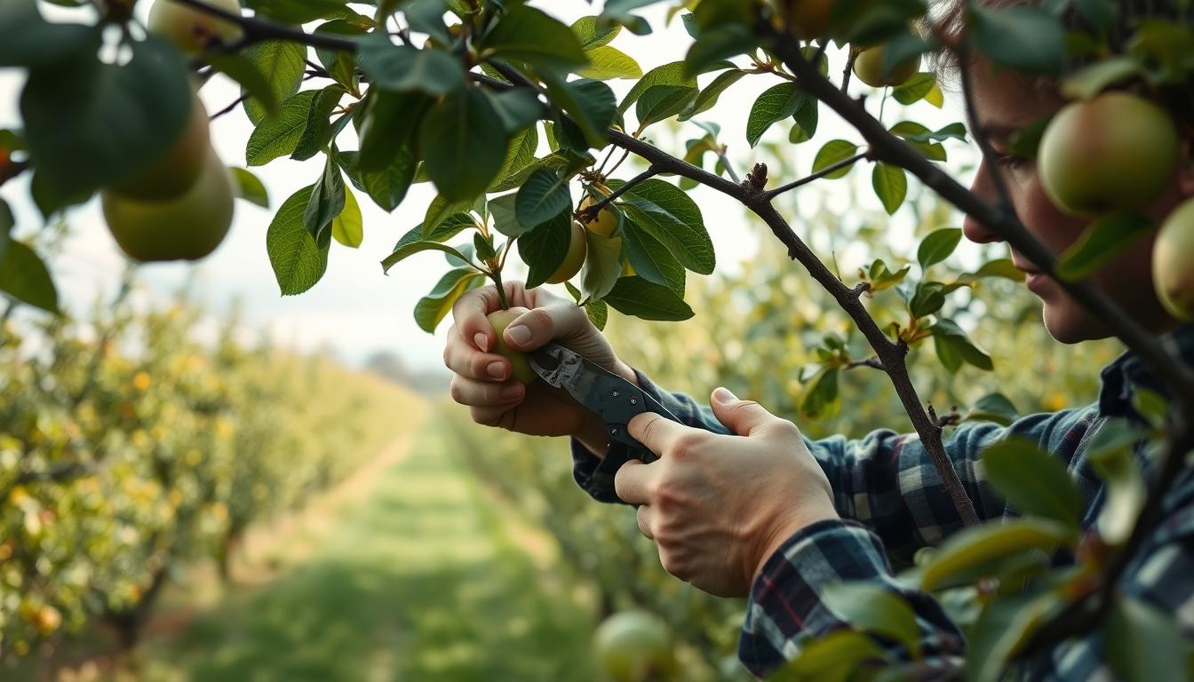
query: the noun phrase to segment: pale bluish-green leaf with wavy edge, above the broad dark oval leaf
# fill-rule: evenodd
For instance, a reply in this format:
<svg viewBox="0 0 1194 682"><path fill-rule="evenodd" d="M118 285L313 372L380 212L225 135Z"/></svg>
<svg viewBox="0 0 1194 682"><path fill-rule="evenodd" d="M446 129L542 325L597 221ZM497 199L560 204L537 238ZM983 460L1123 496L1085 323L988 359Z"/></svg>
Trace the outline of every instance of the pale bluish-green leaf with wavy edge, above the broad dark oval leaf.
<svg viewBox="0 0 1194 682"><path fill-rule="evenodd" d="M448 53L395 45L384 33L370 33L359 44L357 61L376 87L431 96L464 87L464 69Z"/></svg>

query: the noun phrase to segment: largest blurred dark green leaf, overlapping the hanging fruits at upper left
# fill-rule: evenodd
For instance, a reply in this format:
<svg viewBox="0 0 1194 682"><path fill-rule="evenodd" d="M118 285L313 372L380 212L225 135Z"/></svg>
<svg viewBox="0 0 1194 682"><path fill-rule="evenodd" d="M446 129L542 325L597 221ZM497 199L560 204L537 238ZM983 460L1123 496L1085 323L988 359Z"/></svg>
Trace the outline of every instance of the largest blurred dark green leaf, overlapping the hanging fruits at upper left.
<svg viewBox="0 0 1194 682"><path fill-rule="evenodd" d="M131 43L127 64L96 59L91 48L29 73L20 116L32 164L59 195L91 192L144 171L170 149L191 116L186 64L160 38Z"/></svg>

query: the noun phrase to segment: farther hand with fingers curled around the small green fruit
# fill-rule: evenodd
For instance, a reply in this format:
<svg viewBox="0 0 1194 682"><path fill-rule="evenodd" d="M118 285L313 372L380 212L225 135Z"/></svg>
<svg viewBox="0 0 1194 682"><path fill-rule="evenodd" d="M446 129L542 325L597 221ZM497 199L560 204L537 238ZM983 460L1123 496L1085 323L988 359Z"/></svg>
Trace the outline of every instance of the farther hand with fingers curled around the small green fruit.
<svg viewBox="0 0 1194 682"><path fill-rule="evenodd" d="M636 382L634 370L620 361L605 337L589 321L584 308L522 282L505 283L511 309L523 314L506 327L510 348L530 351L556 342L605 369ZM511 379L511 364L493 351L497 336L486 319L501 308L493 285L462 295L453 306L453 326L444 346L444 364L453 370L451 397L467 405L473 420L531 436L576 436L597 454L605 443L605 424L567 392L543 381L523 386ZM529 331L517 337L518 327Z"/></svg>

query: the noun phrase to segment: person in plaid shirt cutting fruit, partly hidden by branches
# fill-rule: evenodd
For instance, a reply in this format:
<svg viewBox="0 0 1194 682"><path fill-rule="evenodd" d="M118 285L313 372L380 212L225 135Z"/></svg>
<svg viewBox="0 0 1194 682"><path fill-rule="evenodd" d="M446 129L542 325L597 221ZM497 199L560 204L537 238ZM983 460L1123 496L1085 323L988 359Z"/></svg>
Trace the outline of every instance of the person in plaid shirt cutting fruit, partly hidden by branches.
<svg viewBox="0 0 1194 682"><path fill-rule="evenodd" d="M955 5L960 11L962 4ZM1009 140L1013 131L1063 105L1055 84L1040 87L1021 75L996 73L980 60L956 68L970 69L977 118L995 149L978 168L973 191L996 199L989 167L995 164L1023 225L1054 252L1064 251L1089 221L1053 207L1035 162L1017 158ZM1149 211L1158 219L1194 197L1194 124L1188 112L1175 115L1184 148L1170 186ZM979 244L999 241L972 219L964 233ZM1157 301L1151 246L1151 238L1139 240L1093 281L1183 362L1194 364L1194 325L1181 324ZM1076 344L1109 336L1101 320L1022 254L1014 252L1013 262L1028 275L1027 287L1040 297L1044 324L1053 338ZM762 676L799 652L804 638L844 626L821 600L829 585L842 580L864 580L904 596L916 612L928 659L956 664L965 656L960 631L941 606L898 583L892 573L890 557L910 557L962 527L915 434L879 429L856 440L839 435L813 441L792 422L725 388L713 392L708 406L700 405L660 389L620 360L571 301L517 282L506 284L506 295L523 308L505 330L512 348L533 350L550 340L572 348L638 383L681 423L656 414L635 417L630 435L660 459L603 471L603 462L614 460L605 455L618 446L607 441L597 416L541 383L524 387L512 381L509 361L493 354L496 338L485 318L499 306L492 287L463 295L453 308L444 348L444 362L454 371L451 395L469 407L479 424L570 436L578 484L596 499L638 505L639 528L656 541L664 570L713 595L747 596L738 656L751 672ZM1083 527L1095 523L1103 489L1087 457L1091 436L1110 419L1141 419L1132 404L1138 388L1163 393L1131 352L1103 368L1101 380L1097 400L1088 406L1027 416L1009 426L966 423L946 436L946 450L983 520L1017 515L990 489L979 463L987 444L1015 435L1065 462L1082 492ZM1150 466L1139 448L1137 456ZM1194 478L1188 469L1173 486L1162 523L1133 557L1119 588L1171 614L1183 635L1194 637ZM891 644L888 651L898 656L901 649ZM1096 632L1045 652L1032 663L1030 676L1100 675L1108 671Z"/></svg>

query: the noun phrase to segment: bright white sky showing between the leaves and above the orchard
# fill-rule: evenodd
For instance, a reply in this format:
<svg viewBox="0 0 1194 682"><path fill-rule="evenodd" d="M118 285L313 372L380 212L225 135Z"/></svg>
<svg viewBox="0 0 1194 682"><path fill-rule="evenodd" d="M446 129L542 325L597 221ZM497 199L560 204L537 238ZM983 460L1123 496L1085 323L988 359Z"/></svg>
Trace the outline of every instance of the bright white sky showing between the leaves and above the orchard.
<svg viewBox="0 0 1194 682"><path fill-rule="evenodd" d="M140 12L143 16L148 10L148 2L142 0L141 5ZM542 0L535 5L566 23L596 13L593 6L581 0L550 2ZM638 60L644 72L682 59L691 43L678 19L670 27L663 27L665 7L666 5L659 5L645 12L656 27L653 35L638 37L622 31L613 43ZM47 17L79 16L44 4L43 11ZM709 79L712 76L703 76L701 84L706 84ZM17 103L23 80L23 74L17 69L0 69L0 128L19 127ZM611 81L610 85L621 99L630 82ZM728 155L739 172L750 167L756 160L745 142L745 122L750 105L758 93L775 82L776 80L765 76L743 79L721 97L715 109L698 117L721 124L722 140L728 142ZM236 99L239 88L221 76L208 84L201 96L208 110L216 111ZM958 110L953 104L948 103L942 112L924 104L918 105L917 119L928 125L958 121ZM833 137L858 140L858 135L832 117L827 109L823 107L821 112L821 128L817 140L800 147L789 147L793 149L792 153L798 155L801 168L807 168L812 164L813 154L824 141ZM691 136L701 135L695 127L687 125L693 133ZM787 128L787 125L773 127L768 139L783 140ZM245 142L251 130L252 127L241 109L213 124L213 141L226 164L245 166ZM351 134L352 129L349 127L341 136L341 148L355 147L355 143L347 141ZM671 153L678 155L683 152L679 141L671 141L666 134L659 134L658 137L660 143L676 145L669 149ZM953 145L949 149L952 160L967 156L959 145ZM252 171L265 183L272 209L276 210L290 193L314 182L322 162L322 155L306 162L278 159ZM629 177L634 172L636 171L629 168L629 165L624 165L618 176ZM863 173L855 171L853 174ZM864 176L869 178L869 172ZM832 183L827 185L820 183L820 185L831 192L829 197L831 202L844 197L841 192L833 196ZM576 189L573 191L576 192ZM414 256L392 270L389 277L382 275L378 263L389 254L400 235L421 221L427 203L435 196L433 188L430 183L412 186L402 205L393 214L386 214L368 197L357 193L364 213L364 242L358 250L345 248L333 242L327 274L306 294L287 297L278 295L265 251L265 232L272 210L238 202L235 221L228 238L201 264L155 264L142 268L142 300L165 300L179 284L193 277L197 294L214 311L223 311L232 301L240 299L246 325L271 330L283 344L300 349L331 344L343 357L353 362L363 360L375 350L388 349L398 352L412 367L442 367L441 354L448 322L443 322L437 334L432 337L419 330L412 317L418 299L430 290L445 271L447 263L442 254L430 252ZM746 220L744 210L728 197L704 188L693 190L691 196L703 211L704 223L716 251L719 271L738 270L759 247L755 238L758 231L743 229ZM0 197L10 203L17 215L18 236L29 235L42 227L42 219L29 197L27 173L0 188ZM878 201L873 196L868 201L878 207ZM841 210L849 208L841 205ZM93 199L70 210L67 220L70 225L70 236L64 252L54 259L50 268L64 307L75 314L85 314L97 293L110 296L115 291L124 259L107 234L98 201ZM522 266L517 257L512 257L510 263ZM843 271L849 271L847 264L842 263L842 266ZM507 265L507 272L510 272L507 278L519 277L524 270ZM689 276L697 277L693 274ZM566 296L562 285L558 287Z"/></svg>

